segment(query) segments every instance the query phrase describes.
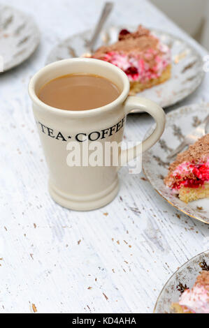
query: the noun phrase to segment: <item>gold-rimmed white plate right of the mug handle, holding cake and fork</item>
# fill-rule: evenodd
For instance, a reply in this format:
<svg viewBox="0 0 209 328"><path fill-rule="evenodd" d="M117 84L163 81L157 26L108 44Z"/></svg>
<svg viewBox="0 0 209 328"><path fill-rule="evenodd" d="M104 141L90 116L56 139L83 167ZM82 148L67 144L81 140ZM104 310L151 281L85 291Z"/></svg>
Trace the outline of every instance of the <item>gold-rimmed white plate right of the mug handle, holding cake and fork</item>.
<svg viewBox="0 0 209 328"><path fill-rule="evenodd" d="M171 149L178 147L184 136L190 133L209 114L209 103L188 105L173 110L166 115L166 129L161 140L143 155L143 170L154 189L176 209L204 223L209 223L209 201L196 200L186 204L170 188L165 186L164 177L168 173L166 161Z"/></svg>

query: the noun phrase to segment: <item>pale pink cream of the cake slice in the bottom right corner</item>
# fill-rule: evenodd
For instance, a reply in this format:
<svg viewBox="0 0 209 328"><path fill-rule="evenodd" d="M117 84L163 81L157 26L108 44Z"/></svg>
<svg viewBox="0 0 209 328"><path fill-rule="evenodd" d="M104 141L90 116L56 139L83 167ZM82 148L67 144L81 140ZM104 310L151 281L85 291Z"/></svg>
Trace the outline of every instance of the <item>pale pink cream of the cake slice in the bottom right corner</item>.
<svg viewBox="0 0 209 328"><path fill-rule="evenodd" d="M203 286L196 285L192 290L185 290L179 301L193 313L209 313L209 292Z"/></svg>

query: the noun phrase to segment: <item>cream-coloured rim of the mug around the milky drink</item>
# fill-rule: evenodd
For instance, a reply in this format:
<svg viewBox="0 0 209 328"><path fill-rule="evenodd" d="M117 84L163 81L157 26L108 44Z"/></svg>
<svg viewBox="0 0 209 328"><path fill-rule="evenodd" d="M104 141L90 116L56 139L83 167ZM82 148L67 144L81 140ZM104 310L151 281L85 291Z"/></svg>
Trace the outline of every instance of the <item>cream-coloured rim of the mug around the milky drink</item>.
<svg viewBox="0 0 209 328"><path fill-rule="evenodd" d="M72 64L73 62L89 62L89 61L94 61L94 64L99 65L99 66L106 66L114 71L114 73L117 73L117 75L120 75L123 81L123 89L122 93L120 96L117 97L112 103L108 103L107 105L104 105L102 107L97 107L91 110L62 110L56 107L52 107L50 105L47 105L43 103L42 100L38 98L35 92L35 87L38 79L41 77L41 75L44 75L48 70L51 68L61 67L67 64ZM62 75L61 75L62 76ZM53 79L52 79L53 80ZM29 96L33 103L35 103L38 107L42 107L44 110L48 112L54 112L54 114L59 114L59 116L64 116L64 117L89 117L89 116L94 116L95 114L101 114L101 112L106 112L108 110L112 110L113 107L117 106L119 103L123 103L124 100L126 100L127 96L129 95L129 90L130 90L130 82L129 78L127 75L124 73L123 70L121 70L119 67L108 63L107 61L101 61L100 59L92 59L92 58L70 58L70 59L64 59L62 61L55 61L52 64L49 64L41 70L38 70L38 72L31 77L31 80L29 82Z"/></svg>

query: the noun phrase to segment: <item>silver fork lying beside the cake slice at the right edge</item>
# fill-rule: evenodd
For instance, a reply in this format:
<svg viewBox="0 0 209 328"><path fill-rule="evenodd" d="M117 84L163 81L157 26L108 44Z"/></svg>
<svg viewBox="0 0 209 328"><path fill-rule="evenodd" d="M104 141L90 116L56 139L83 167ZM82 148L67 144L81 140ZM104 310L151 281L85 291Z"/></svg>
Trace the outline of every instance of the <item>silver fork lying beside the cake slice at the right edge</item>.
<svg viewBox="0 0 209 328"><path fill-rule="evenodd" d="M208 133L208 124L209 124L209 114L204 119L203 123L197 126L191 133L186 135L185 139L182 141L182 143L171 153L167 156L167 160L170 161L171 158L173 158L176 154L180 153L185 147L189 146L190 144L194 144L200 137L203 137L203 135L206 135Z"/></svg>

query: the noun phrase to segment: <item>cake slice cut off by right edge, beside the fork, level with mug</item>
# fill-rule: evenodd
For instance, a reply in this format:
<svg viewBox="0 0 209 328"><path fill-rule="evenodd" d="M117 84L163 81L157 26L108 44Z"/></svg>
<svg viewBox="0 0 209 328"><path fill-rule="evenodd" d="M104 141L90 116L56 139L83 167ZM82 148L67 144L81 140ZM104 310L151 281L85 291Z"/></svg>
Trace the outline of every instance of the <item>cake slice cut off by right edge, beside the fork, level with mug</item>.
<svg viewBox="0 0 209 328"><path fill-rule="evenodd" d="M209 197L209 134L178 154L164 183L186 203Z"/></svg>

